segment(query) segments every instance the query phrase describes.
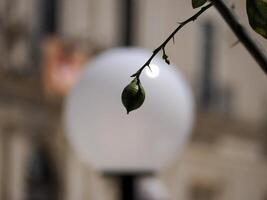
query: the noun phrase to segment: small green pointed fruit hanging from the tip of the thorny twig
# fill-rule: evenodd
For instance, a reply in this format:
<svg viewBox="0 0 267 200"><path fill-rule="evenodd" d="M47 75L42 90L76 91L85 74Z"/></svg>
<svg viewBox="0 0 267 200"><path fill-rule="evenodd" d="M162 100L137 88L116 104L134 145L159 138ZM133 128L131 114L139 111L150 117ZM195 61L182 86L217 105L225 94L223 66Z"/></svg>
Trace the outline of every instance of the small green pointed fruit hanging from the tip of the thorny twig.
<svg viewBox="0 0 267 200"><path fill-rule="evenodd" d="M144 100L145 90L137 79L134 79L122 91L121 101L127 110L127 114L132 110L139 108L144 103Z"/></svg>

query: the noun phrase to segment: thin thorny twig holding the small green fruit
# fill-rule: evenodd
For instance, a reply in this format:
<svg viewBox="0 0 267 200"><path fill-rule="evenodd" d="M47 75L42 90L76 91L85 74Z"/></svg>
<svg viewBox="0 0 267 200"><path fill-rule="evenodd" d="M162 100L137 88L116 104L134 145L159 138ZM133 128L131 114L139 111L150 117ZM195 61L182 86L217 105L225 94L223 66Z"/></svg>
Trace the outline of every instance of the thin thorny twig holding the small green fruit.
<svg viewBox="0 0 267 200"><path fill-rule="evenodd" d="M152 61L152 59L161 51L164 50L165 46L167 45L167 43L174 38L175 34L181 29L183 28L186 24L188 24L189 22L193 22L195 21L202 13L204 13L207 9L209 9L212 6L212 3L209 3L206 6L203 6L195 15L193 15L192 17L188 18L187 20L179 23L179 26L168 36L168 38L159 46L157 47L154 51L153 54L151 55L151 57L145 62L145 64L136 72L134 73L131 77L135 77L137 80L139 80L139 77L142 73L142 71L146 68L149 67L150 62ZM163 52L165 53L165 52Z"/></svg>

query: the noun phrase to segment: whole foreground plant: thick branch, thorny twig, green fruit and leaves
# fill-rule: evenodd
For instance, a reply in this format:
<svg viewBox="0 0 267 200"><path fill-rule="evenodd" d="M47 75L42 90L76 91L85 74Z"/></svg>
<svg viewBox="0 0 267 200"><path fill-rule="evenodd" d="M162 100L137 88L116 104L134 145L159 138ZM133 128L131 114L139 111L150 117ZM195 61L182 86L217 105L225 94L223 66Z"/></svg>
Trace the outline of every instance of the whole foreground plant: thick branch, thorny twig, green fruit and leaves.
<svg viewBox="0 0 267 200"><path fill-rule="evenodd" d="M207 4L208 2L209 4ZM195 13L193 16L191 16L190 18L179 23L179 26L163 41L163 43L159 47L157 47L153 51L153 54L144 63L144 65L131 76L133 77L133 81L124 88L123 93L122 93L122 102L127 110L127 113L129 113L130 111L134 109L139 108L144 102L145 90L141 86L141 81L140 81L140 75L142 71L144 70L144 68L149 67L153 58L160 51L162 51L162 59L169 65L170 59L165 51L165 47L171 39L173 40L173 43L174 43L174 37L176 33L189 22L195 21L202 13L204 13L207 9L209 9L213 4L216 8L218 7L219 4L223 5L223 3L220 2L219 0L191 0L191 3L194 9L200 8L200 7L201 9L197 13ZM225 18L227 18L229 21L232 20L232 23L230 23L232 26L232 30L235 32L234 29L238 29L238 33L241 34L239 38L242 39L240 41L243 42L243 44L250 51L250 53L252 52L251 54L254 56L257 62L260 63L260 66L262 67L262 69L265 72L267 72L266 71L267 70L266 56L264 54L259 53L260 51L257 48L257 45L251 42L252 40L245 33L243 27L240 24L238 24L237 20L234 19L234 16L230 13L230 11L228 11L225 6L221 6L221 7L223 7L224 11L226 11L225 13L227 13L227 17ZM260 34L262 37L267 39L267 0L246 0L246 11L247 11L247 16L248 16L248 21L252 29L256 33ZM231 18L231 20L229 18ZM246 40L246 42L244 42L244 40ZM248 46L250 46L250 48L248 48Z"/></svg>

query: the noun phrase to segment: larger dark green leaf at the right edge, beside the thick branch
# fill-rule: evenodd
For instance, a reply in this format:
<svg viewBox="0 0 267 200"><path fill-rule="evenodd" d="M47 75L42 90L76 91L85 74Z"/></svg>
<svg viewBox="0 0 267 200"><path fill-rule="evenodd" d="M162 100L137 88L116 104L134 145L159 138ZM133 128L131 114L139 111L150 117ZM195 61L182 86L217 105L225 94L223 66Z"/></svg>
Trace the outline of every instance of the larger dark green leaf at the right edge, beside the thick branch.
<svg viewBox="0 0 267 200"><path fill-rule="evenodd" d="M267 0L247 0L250 26L267 39Z"/></svg>

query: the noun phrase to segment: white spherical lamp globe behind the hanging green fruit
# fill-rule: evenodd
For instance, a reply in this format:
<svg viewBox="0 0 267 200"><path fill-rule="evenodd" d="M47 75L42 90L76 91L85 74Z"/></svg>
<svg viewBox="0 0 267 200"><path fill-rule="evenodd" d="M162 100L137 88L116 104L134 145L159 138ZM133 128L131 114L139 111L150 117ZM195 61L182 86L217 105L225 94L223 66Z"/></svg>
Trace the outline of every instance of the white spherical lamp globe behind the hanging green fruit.
<svg viewBox="0 0 267 200"><path fill-rule="evenodd" d="M140 76L144 104L129 115L121 103L130 77L151 56L140 48L106 51L88 63L66 97L67 138L99 170L158 171L177 158L193 123L190 88L174 66L154 58Z"/></svg>

